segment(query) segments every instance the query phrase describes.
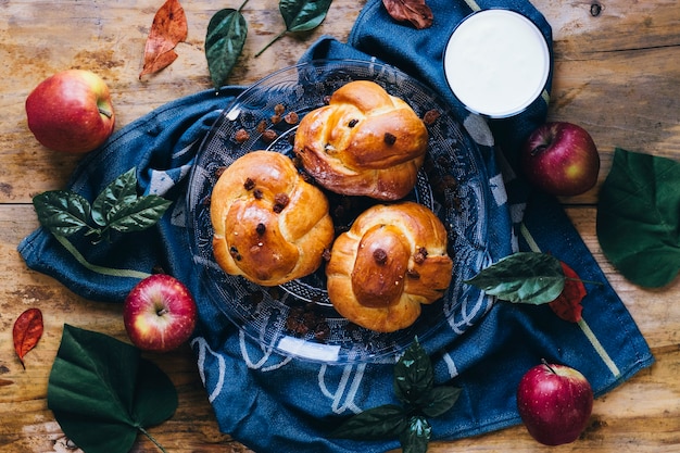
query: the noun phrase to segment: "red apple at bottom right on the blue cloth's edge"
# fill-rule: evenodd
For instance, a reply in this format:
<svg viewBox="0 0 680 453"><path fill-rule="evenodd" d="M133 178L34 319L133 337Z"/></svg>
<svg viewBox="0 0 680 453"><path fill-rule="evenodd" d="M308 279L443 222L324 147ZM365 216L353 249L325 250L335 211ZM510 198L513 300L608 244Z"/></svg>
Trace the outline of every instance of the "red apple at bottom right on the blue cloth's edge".
<svg viewBox="0 0 680 453"><path fill-rule="evenodd" d="M593 390L578 370L544 362L521 378L517 408L536 440L561 445L574 442L585 429L593 408Z"/></svg>

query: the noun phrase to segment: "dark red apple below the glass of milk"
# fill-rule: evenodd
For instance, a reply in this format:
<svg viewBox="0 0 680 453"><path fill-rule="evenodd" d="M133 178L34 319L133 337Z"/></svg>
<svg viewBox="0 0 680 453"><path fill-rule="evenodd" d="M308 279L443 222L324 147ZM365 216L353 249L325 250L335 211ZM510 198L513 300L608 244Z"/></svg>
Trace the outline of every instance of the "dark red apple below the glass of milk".
<svg viewBox="0 0 680 453"><path fill-rule="evenodd" d="M577 196L592 189L600 173L600 154L581 126L544 123L527 139L520 155L525 176L554 196Z"/></svg>

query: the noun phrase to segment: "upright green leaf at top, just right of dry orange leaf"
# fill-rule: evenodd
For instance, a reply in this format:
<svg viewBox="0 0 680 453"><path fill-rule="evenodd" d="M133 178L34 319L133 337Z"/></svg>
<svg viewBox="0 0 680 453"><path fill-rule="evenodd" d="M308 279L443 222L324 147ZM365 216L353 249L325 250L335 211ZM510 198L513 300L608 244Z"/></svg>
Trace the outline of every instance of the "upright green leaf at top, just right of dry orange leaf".
<svg viewBox="0 0 680 453"><path fill-rule="evenodd" d="M240 9L221 10L211 17L205 34L205 58L215 89L224 85L236 66L247 36L248 23Z"/></svg>

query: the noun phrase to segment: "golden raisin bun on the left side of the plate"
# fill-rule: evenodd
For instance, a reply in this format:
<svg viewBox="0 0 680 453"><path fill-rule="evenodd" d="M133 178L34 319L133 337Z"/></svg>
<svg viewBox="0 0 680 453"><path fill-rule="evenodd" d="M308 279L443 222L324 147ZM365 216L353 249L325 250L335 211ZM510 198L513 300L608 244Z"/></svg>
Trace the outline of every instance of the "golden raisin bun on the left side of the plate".
<svg viewBox="0 0 680 453"><path fill-rule="evenodd" d="M217 264L262 286L312 274L335 235L326 196L274 151L248 153L224 171L211 221Z"/></svg>

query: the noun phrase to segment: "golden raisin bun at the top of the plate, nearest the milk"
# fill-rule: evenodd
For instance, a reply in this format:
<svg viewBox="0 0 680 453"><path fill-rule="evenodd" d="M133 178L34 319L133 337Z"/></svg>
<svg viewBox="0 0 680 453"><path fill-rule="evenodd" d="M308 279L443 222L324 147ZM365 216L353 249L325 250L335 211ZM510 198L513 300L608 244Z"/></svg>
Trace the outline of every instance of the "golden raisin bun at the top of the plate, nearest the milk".
<svg viewBox="0 0 680 453"><path fill-rule="evenodd" d="M374 81L351 81L307 113L294 152L328 190L399 200L415 186L428 144L425 123Z"/></svg>

